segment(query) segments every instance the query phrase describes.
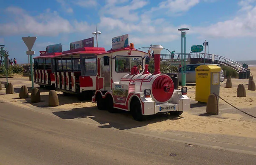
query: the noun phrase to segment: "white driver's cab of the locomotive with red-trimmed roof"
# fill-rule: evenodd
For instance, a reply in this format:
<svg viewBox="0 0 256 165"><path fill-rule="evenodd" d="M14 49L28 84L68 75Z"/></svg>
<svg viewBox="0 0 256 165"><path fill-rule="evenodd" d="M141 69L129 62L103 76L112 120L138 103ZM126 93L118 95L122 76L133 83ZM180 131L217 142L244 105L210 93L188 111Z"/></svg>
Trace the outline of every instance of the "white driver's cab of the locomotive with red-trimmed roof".
<svg viewBox="0 0 256 165"><path fill-rule="evenodd" d="M104 87L101 88L99 81L99 89L111 91L111 84L119 84L123 76L131 74L134 66L140 73L143 72L146 55L143 51L129 47L98 54L98 75L99 79L104 78Z"/></svg>

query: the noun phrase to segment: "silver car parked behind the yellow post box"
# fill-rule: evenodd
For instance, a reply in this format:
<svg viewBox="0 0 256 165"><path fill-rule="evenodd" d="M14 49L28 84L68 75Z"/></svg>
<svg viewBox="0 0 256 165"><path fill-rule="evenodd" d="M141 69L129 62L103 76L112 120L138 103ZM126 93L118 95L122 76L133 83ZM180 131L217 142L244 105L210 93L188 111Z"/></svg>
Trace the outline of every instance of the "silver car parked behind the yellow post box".
<svg viewBox="0 0 256 165"><path fill-rule="evenodd" d="M195 83L196 74L195 68L204 65L204 64L188 64L186 65L186 82L187 83ZM220 67L219 64L206 64L206 65L217 65ZM220 82L224 81L224 72L221 70L220 72ZM181 67L179 68L179 82L181 82Z"/></svg>

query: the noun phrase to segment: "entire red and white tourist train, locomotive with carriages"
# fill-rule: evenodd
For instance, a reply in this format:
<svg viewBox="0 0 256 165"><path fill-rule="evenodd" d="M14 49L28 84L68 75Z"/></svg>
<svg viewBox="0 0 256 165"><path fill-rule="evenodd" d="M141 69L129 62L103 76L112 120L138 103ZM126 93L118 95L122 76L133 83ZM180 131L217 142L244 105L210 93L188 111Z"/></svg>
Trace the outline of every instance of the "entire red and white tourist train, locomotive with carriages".
<svg viewBox="0 0 256 165"><path fill-rule="evenodd" d="M161 45L154 52L154 73L148 72L148 53L128 45L128 35L113 38L112 49L82 47L35 57L35 83L64 95L91 99L98 109L130 111L134 120L146 115L181 115L190 109L186 87L174 89L172 79L160 73ZM70 46L71 48L71 46Z"/></svg>

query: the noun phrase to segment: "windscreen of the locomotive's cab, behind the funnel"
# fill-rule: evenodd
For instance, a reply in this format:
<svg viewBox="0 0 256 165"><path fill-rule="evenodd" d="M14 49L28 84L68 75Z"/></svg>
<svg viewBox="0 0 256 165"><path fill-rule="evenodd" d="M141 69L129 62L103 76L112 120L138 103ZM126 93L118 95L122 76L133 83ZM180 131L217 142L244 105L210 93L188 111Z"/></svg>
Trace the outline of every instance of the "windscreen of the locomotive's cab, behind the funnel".
<svg viewBox="0 0 256 165"><path fill-rule="evenodd" d="M116 56L115 60L117 73L129 73L131 72L131 67L142 64L142 57Z"/></svg>

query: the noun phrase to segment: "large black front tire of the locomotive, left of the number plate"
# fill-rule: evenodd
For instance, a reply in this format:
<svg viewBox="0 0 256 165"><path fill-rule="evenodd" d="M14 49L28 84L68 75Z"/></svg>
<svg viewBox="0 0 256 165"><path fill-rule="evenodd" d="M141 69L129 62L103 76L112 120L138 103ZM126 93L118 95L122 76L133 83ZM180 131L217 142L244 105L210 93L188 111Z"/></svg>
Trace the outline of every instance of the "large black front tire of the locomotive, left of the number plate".
<svg viewBox="0 0 256 165"><path fill-rule="evenodd" d="M143 121L145 119L145 116L142 115L140 101L137 98L131 101L130 109L131 109L131 115L134 118L134 120Z"/></svg>

